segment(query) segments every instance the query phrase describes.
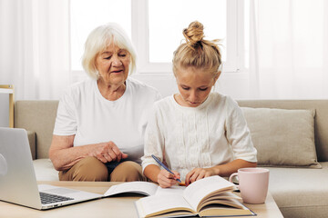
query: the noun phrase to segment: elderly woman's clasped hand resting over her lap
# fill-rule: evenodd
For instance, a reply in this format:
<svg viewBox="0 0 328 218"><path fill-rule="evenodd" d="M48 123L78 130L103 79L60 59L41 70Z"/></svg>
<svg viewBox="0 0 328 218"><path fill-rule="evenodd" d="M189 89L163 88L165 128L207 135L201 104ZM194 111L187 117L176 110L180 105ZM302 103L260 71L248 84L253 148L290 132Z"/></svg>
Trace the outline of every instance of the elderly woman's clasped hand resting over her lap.
<svg viewBox="0 0 328 218"><path fill-rule="evenodd" d="M121 159L128 157L128 154L122 153L113 142L95 144L91 153L102 163L120 162Z"/></svg>

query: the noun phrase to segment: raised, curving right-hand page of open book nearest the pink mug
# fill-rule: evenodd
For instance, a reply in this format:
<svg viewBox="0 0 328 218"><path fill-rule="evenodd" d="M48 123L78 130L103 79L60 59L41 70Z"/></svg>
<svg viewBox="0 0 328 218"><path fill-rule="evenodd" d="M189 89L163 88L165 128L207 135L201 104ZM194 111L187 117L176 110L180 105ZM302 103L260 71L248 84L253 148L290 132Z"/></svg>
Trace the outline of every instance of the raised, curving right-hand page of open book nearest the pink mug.
<svg viewBox="0 0 328 218"><path fill-rule="evenodd" d="M199 203L205 196L213 192L232 190L233 187L233 183L219 175L214 175L191 183L183 192L183 196L193 210L197 211Z"/></svg>

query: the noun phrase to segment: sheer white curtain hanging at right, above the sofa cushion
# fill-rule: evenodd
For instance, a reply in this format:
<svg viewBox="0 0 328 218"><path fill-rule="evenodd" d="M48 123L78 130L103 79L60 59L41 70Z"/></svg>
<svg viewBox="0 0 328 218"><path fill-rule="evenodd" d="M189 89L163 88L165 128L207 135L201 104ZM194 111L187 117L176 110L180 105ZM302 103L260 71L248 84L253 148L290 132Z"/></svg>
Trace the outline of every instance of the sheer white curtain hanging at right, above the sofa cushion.
<svg viewBox="0 0 328 218"><path fill-rule="evenodd" d="M250 3L251 98L328 98L328 1Z"/></svg>

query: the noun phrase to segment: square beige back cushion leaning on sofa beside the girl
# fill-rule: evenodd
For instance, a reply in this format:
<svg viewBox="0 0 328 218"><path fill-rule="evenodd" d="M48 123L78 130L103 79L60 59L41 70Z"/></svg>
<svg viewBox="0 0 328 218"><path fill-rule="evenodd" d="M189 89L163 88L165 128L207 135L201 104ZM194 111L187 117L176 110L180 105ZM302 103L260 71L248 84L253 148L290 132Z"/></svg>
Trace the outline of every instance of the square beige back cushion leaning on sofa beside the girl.
<svg viewBox="0 0 328 218"><path fill-rule="evenodd" d="M314 110L241 109L259 165L321 167L314 145Z"/></svg>

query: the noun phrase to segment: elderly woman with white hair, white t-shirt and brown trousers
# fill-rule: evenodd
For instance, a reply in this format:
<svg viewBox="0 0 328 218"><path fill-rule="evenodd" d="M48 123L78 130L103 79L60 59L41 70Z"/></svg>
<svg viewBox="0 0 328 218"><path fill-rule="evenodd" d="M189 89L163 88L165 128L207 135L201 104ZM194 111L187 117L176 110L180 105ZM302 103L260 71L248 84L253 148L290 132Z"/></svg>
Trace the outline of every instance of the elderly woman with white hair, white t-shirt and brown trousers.
<svg viewBox="0 0 328 218"><path fill-rule="evenodd" d="M91 77L59 102L49 157L64 181L140 181L149 109L159 92L128 74L136 53L115 24L87 37L83 67Z"/></svg>

